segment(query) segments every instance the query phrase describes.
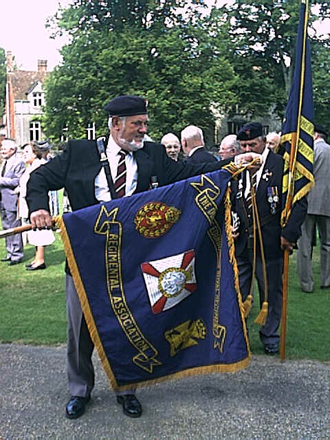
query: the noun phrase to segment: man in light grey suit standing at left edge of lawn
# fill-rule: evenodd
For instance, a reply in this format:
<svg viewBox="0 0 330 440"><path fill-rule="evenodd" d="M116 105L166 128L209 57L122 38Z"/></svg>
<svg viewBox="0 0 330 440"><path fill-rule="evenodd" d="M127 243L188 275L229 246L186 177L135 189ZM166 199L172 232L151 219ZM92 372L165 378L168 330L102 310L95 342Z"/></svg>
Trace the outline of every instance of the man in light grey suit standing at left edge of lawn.
<svg viewBox="0 0 330 440"><path fill-rule="evenodd" d="M0 170L0 203L3 229L17 228L21 221L17 219L17 194L14 189L19 186L19 179L24 173L25 164L17 156L17 145L11 139L5 139L1 144L2 164ZM5 239L7 255L1 261L8 265L21 263L23 259L23 243L21 234L14 234Z"/></svg>

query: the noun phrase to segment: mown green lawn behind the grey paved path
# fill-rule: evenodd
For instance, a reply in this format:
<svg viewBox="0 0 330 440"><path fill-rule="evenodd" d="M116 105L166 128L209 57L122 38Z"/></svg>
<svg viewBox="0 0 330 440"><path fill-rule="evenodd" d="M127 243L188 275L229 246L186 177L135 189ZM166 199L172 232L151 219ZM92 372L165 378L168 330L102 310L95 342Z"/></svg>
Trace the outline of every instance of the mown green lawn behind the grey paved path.
<svg viewBox="0 0 330 440"><path fill-rule="evenodd" d="M0 239L0 256L5 240ZM25 247L24 263L32 261L34 248ZM296 275L296 254L290 257L287 310L287 359L330 360L330 290L320 290L318 247L314 249L313 294L301 292ZM65 255L58 234L45 252L46 270L28 272L25 264L0 263L0 342L62 344L66 340ZM259 295L248 319L253 354L263 354L259 325Z"/></svg>

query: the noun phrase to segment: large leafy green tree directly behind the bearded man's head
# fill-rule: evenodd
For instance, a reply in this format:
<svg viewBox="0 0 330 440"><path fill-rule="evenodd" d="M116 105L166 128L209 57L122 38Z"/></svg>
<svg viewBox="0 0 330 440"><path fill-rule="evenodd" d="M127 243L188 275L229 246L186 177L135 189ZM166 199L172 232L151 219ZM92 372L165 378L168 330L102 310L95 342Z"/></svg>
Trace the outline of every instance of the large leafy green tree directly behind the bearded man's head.
<svg viewBox="0 0 330 440"><path fill-rule="evenodd" d="M126 12L107 13L105 3L116 2L76 1L58 19L73 39L46 83L47 135L58 137L67 125L70 136L81 136L91 121L104 133L104 104L120 94L146 96L155 140L186 124L211 133L210 107L225 111L236 102L224 28L211 32L210 17L201 17L193 4L175 14L185 2L144 2L153 9L137 8L129 19Z"/></svg>

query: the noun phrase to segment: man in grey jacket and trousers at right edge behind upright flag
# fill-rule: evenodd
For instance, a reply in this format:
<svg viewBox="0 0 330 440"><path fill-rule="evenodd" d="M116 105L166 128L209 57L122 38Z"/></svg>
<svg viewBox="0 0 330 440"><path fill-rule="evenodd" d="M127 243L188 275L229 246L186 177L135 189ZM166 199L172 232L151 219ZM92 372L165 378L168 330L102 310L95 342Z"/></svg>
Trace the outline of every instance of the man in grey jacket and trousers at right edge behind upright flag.
<svg viewBox="0 0 330 440"><path fill-rule="evenodd" d="M314 230L320 236L321 289L330 289L330 145L325 142L327 131L317 125L314 129L314 179L315 186L307 195L308 210L298 241L297 270L303 292L314 288L311 261Z"/></svg>

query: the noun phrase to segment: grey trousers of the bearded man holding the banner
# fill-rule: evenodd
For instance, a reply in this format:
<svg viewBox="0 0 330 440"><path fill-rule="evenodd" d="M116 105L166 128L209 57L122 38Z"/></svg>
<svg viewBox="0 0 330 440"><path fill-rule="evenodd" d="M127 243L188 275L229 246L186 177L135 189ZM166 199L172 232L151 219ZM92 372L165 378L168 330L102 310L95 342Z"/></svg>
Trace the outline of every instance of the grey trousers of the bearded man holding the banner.
<svg viewBox="0 0 330 440"><path fill-rule="evenodd" d="M87 397L94 388L94 366L91 355L94 343L80 306L72 276L66 275L67 290L67 378L72 396ZM117 395L135 394L135 388Z"/></svg>

